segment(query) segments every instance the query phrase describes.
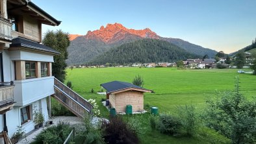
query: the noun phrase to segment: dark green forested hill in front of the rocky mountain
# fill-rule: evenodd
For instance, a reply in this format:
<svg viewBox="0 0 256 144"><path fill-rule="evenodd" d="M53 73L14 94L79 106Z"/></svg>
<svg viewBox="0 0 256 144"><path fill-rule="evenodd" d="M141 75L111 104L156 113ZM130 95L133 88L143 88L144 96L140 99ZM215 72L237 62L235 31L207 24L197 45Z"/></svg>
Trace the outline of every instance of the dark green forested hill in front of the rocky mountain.
<svg viewBox="0 0 256 144"><path fill-rule="evenodd" d="M198 56L163 40L144 39L112 48L88 62L88 65L175 62L186 58Z"/></svg>

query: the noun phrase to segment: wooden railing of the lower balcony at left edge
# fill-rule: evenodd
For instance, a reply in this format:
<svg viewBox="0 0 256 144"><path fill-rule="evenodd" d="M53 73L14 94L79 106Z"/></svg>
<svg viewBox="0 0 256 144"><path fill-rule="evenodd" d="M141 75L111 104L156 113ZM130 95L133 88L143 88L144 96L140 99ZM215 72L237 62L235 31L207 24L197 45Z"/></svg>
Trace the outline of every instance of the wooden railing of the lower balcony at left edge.
<svg viewBox="0 0 256 144"><path fill-rule="evenodd" d="M0 82L0 106L14 102L14 83Z"/></svg>

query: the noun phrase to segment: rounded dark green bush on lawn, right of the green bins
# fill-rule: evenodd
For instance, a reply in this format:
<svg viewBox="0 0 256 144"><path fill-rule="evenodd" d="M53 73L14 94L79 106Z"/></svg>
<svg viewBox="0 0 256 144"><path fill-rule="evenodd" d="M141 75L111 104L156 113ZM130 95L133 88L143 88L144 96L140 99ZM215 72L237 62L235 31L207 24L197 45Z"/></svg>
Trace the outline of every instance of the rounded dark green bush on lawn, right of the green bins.
<svg viewBox="0 0 256 144"><path fill-rule="evenodd" d="M160 114L157 128L164 134L177 136L180 134L181 123L177 117L169 114Z"/></svg>

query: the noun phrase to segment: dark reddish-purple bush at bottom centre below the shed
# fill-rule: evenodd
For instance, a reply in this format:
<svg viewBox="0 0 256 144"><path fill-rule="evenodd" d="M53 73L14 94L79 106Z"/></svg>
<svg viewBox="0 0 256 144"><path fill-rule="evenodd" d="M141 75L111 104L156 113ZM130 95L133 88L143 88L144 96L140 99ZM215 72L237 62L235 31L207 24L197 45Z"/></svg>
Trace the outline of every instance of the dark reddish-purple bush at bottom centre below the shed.
<svg viewBox="0 0 256 144"><path fill-rule="evenodd" d="M103 128L105 129L104 139L106 143L139 143L136 132L131 130L120 117L110 119L109 123L103 124Z"/></svg>

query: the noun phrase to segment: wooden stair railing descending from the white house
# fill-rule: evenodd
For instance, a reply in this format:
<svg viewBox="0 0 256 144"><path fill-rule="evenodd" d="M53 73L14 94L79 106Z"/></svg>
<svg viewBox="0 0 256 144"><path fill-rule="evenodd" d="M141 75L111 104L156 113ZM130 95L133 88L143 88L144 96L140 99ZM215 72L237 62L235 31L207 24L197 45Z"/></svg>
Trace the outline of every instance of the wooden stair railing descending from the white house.
<svg viewBox="0 0 256 144"><path fill-rule="evenodd" d="M53 97L57 99L57 101L61 102L66 108L71 110L73 114L83 117L84 112L92 112L92 104L86 101L79 94L75 93L75 91L68 88L68 86L60 82L57 78L54 80L54 86L55 94Z"/></svg>

